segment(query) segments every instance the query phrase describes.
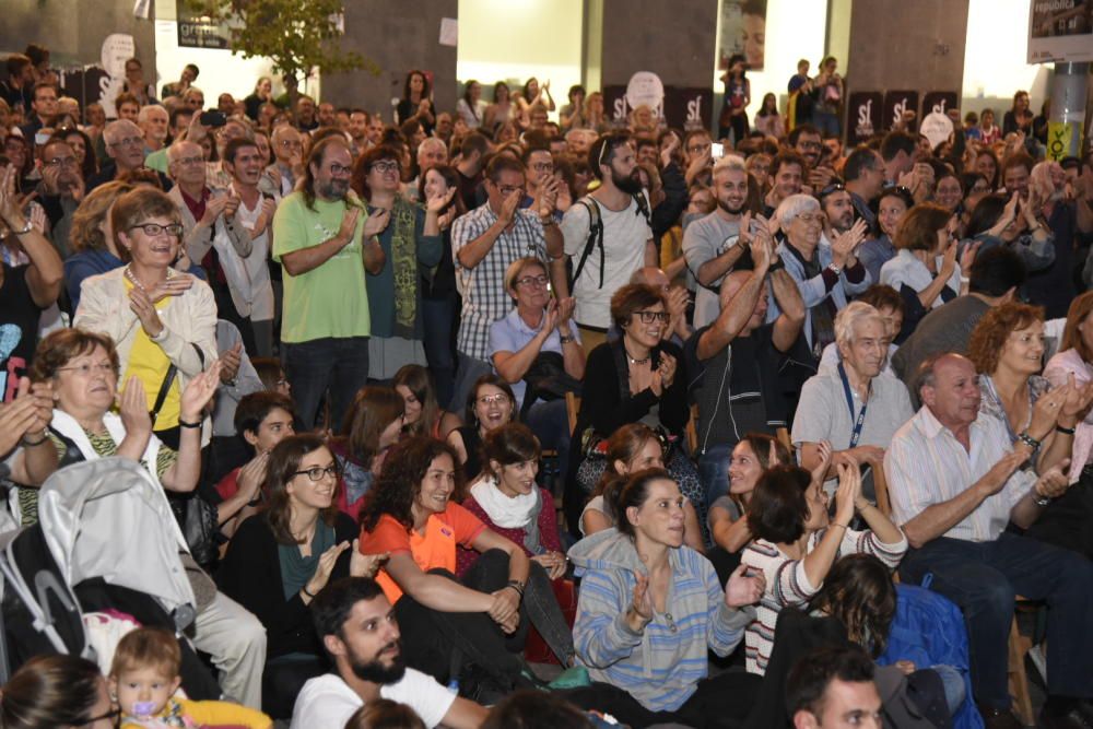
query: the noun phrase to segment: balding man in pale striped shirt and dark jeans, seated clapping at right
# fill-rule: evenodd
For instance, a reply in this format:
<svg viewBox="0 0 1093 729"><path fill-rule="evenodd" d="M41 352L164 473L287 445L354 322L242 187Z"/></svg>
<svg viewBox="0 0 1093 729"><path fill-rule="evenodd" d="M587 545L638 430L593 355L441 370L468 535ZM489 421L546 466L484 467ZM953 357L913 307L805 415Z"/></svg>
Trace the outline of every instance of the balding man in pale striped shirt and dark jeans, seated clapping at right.
<svg viewBox="0 0 1093 729"><path fill-rule="evenodd" d="M1048 698L1041 727L1093 721L1093 563L1077 552L1006 531L1027 528L1066 491L1058 467L1021 470L1055 428L1069 386L1039 398L1027 430L1011 440L996 418L979 416L975 367L959 354L922 365L924 405L884 457L896 524L910 542L900 568L964 612L972 685L988 727L1019 727L1007 690L1007 640L1014 596L1048 603Z"/></svg>

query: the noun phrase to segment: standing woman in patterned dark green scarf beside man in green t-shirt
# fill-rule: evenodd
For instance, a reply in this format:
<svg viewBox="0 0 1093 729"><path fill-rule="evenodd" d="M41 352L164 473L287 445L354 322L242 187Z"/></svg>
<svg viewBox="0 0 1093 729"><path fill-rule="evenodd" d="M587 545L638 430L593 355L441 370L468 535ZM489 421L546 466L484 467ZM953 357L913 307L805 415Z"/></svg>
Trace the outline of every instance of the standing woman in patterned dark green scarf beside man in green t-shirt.
<svg viewBox="0 0 1093 729"><path fill-rule="evenodd" d="M440 262L440 210L456 193L435 193L424 209L400 192L399 153L380 145L353 166L353 189L368 204L368 215L387 211L390 223L377 234L384 251L378 269L367 271L368 377L388 380L404 364L425 364L422 273Z"/></svg>

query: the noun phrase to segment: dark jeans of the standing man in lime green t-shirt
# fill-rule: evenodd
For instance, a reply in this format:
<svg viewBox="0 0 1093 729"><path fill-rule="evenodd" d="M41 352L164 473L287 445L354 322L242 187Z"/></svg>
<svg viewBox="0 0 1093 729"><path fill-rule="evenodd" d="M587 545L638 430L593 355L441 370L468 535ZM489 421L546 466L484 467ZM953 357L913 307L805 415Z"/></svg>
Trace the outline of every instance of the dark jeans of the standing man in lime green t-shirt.
<svg viewBox="0 0 1093 729"><path fill-rule="evenodd" d="M296 415L306 427L318 427L319 403L327 396L330 427L341 427L356 391L368 384L368 338L325 337L281 344L284 373L292 386Z"/></svg>

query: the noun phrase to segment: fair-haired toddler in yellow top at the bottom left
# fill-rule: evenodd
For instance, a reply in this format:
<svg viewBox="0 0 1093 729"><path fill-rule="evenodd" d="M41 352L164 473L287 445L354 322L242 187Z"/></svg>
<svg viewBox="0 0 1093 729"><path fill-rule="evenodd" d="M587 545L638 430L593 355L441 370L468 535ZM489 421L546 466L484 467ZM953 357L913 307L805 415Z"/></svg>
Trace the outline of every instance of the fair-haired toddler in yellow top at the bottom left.
<svg viewBox="0 0 1093 729"><path fill-rule="evenodd" d="M121 729L232 726L270 729L273 721L227 702L174 698L183 680L181 650L161 627L139 627L118 643L110 665L110 697L121 709Z"/></svg>

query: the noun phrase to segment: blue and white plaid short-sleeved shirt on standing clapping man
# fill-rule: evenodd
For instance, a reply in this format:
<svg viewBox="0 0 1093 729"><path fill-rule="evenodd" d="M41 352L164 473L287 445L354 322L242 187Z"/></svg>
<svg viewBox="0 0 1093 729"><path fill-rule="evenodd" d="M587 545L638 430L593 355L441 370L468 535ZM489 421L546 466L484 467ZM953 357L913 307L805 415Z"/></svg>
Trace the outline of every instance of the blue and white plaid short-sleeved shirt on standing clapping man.
<svg viewBox="0 0 1093 729"><path fill-rule="evenodd" d="M494 242L490 252L473 269L459 262L459 251L484 234L497 221L486 202L451 225L451 257L456 264L456 286L463 297L457 349L469 356L489 361L490 326L512 310L514 304L505 291L505 271L509 264L534 256L546 266L546 238L539 216L530 210L517 210L515 224Z"/></svg>

